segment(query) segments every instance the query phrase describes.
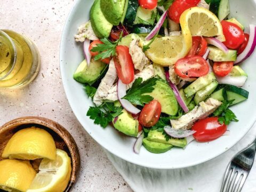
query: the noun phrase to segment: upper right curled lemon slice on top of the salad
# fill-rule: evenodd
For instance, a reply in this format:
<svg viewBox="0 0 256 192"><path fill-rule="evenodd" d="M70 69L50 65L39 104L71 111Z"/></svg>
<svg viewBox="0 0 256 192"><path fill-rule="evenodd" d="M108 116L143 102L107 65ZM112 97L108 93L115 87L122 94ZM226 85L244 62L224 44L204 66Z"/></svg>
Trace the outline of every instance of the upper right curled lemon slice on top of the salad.
<svg viewBox="0 0 256 192"><path fill-rule="evenodd" d="M211 11L202 7L192 7L181 14L180 26L183 33L192 36L217 37L225 41L220 20Z"/></svg>

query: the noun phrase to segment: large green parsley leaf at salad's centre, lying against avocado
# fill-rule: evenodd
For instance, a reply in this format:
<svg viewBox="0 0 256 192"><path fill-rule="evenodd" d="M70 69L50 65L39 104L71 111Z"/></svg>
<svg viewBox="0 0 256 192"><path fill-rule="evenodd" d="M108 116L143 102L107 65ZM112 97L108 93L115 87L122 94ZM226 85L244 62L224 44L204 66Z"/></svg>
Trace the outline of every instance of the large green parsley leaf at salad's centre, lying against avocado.
<svg viewBox="0 0 256 192"><path fill-rule="evenodd" d="M144 106L144 103L149 103L154 99L145 93L151 93L154 91L154 85L156 85L156 81L156 77L149 78L145 82L142 82L141 77L135 79L131 89L122 99L130 101L134 105Z"/></svg>

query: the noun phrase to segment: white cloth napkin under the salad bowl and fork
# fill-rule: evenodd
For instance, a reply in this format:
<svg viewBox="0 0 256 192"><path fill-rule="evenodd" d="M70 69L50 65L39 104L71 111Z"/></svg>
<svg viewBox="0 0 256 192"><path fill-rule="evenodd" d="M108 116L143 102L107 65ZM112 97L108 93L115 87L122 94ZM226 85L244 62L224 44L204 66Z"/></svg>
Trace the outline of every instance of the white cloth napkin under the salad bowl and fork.
<svg viewBox="0 0 256 192"><path fill-rule="evenodd" d="M243 127L241 127L243 129ZM228 135L225 137L232 137ZM135 192L215 192L220 191L223 175L231 158L249 146L256 137L256 124L233 148L199 165L175 170L157 170L138 166L109 153L108 158ZM177 159L178 161L178 159ZM242 192L256 191L256 162Z"/></svg>

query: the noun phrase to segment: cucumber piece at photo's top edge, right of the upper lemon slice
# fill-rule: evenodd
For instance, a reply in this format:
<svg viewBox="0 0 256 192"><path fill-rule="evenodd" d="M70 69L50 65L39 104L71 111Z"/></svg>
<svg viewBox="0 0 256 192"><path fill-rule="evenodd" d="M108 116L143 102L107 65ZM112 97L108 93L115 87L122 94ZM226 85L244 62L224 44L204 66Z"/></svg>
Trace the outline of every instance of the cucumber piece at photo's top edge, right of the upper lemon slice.
<svg viewBox="0 0 256 192"><path fill-rule="evenodd" d="M211 0L210 11L222 21L230 13L229 0Z"/></svg>

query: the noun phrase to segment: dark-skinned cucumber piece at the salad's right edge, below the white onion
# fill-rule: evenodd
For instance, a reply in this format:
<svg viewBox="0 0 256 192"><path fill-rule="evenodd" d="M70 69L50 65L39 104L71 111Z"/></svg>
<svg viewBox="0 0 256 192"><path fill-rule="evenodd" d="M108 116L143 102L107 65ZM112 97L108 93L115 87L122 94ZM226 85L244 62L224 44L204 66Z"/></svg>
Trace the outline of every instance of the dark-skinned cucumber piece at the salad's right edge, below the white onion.
<svg viewBox="0 0 256 192"><path fill-rule="evenodd" d="M242 102L249 97L249 92L234 85L220 84L220 89L225 89L227 92L227 100L234 100L232 105Z"/></svg>

